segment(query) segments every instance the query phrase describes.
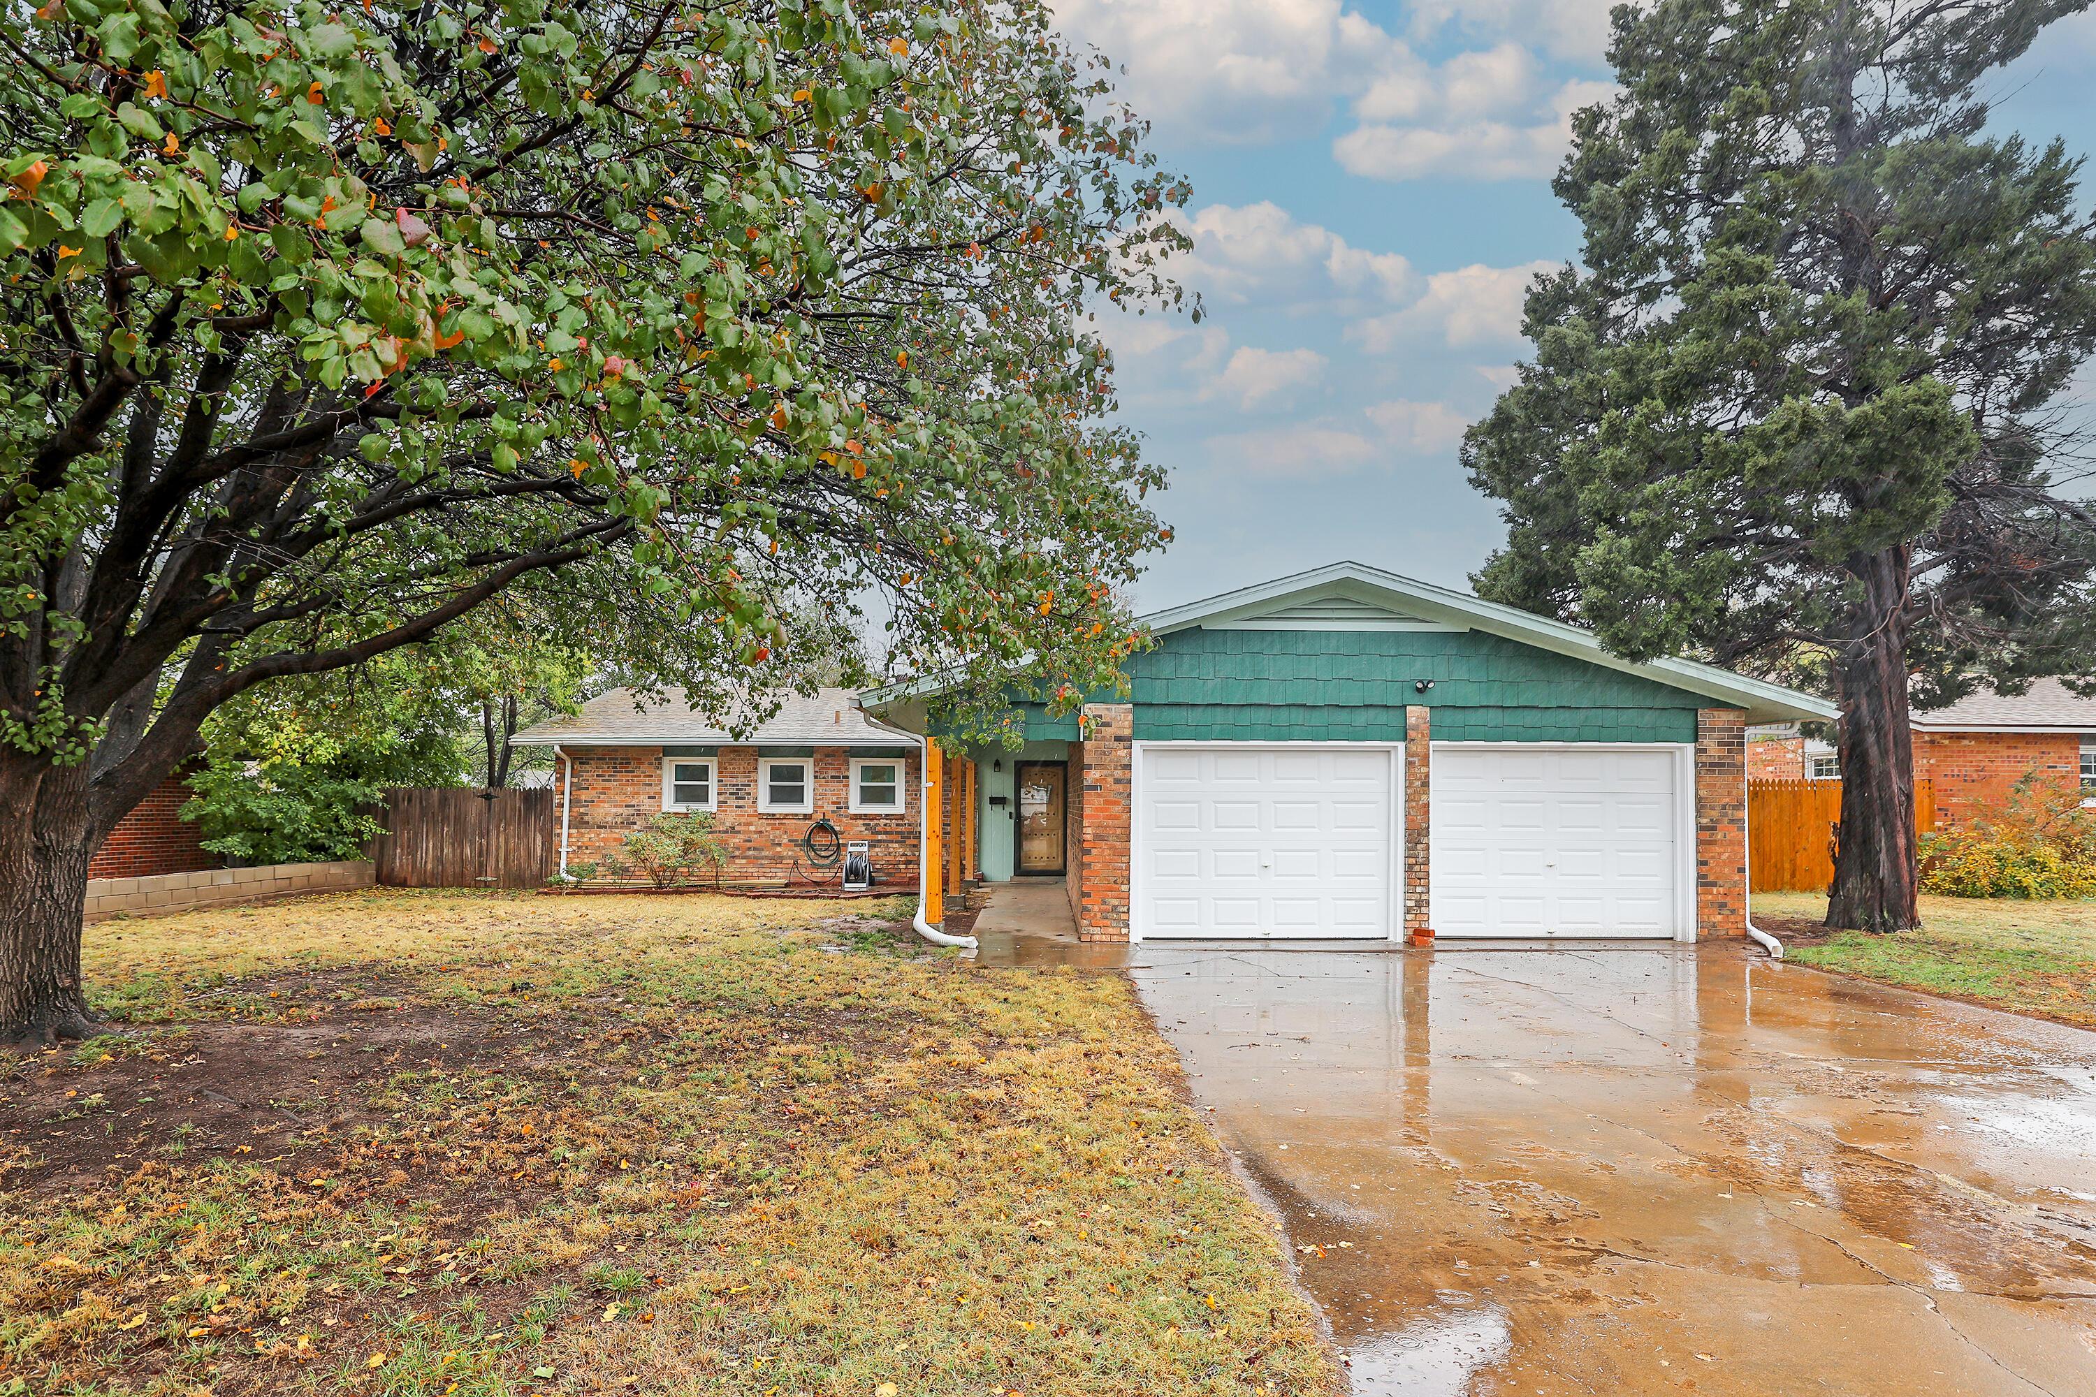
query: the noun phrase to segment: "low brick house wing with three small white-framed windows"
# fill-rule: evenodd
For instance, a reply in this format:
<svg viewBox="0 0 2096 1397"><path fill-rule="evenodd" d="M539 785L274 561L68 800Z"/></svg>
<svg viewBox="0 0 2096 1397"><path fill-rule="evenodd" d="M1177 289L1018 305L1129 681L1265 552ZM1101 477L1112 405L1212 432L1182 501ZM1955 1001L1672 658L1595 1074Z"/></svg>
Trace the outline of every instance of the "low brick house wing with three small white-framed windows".
<svg viewBox="0 0 2096 1397"><path fill-rule="evenodd" d="M851 689L788 695L750 731L717 727L677 689L643 702L612 689L570 716L511 737L553 750L560 867L597 863L664 811L704 811L727 848L727 884L836 882L840 865L809 834L828 821L838 840L872 846L880 884L918 875L920 741L866 716Z"/></svg>

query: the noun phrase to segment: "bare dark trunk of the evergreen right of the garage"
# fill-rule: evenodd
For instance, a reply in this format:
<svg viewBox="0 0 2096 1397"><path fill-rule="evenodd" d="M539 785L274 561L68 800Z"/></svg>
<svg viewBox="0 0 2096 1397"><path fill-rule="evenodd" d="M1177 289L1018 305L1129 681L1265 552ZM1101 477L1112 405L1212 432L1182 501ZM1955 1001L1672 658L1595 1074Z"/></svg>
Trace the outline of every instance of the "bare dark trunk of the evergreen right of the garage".
<svg viewBox="0 0 2096 1397"><path fill-rule="evenodd" d="M1863 584L1853 637L1834 658L1840 693L1840 852L1828 926L1903 932L1920 926L1914 842L1914 729L1907 723L1907 551L1855 570Z"/></svg>

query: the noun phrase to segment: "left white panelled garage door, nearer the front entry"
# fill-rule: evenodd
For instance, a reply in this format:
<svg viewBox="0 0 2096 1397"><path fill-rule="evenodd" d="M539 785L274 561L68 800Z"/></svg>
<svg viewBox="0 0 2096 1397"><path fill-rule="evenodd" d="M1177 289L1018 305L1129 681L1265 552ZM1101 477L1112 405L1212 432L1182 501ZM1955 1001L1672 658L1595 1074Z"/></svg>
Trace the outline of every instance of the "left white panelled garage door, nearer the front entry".
<svg viewBox="0 0 2096 1397"><path fill-rule="evenodd" d="M1390 748L1147 746L1142 936L1390 936Z"/></svg>

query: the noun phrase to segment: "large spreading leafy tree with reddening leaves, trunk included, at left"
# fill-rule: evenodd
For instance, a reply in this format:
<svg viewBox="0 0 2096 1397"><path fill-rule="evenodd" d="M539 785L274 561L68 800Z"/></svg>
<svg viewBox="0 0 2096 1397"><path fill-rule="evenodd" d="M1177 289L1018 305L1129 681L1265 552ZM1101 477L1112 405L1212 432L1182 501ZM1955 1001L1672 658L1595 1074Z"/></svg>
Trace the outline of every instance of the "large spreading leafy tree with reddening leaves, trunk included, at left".
<svg viewBox="0 0 2096 1397"><path fill-rule="evenodd" d="M868 607L1111 674L1157 473L1084 306L1184 199L1035 0L0 10L0 1030L270 679L578 570L700 700Z"/></svg>

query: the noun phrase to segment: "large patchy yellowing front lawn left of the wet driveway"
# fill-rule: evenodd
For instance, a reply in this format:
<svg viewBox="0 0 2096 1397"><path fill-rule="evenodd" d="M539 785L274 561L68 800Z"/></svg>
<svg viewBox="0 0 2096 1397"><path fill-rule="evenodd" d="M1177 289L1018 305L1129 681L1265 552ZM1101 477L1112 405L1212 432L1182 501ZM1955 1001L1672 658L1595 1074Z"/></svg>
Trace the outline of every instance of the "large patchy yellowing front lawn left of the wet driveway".
<svg viewBox="0 0 2096 1397"><path fill-rule="evenodd" d="M1128 982L905 911L88 928L138 1028L0 1079L0 1393L1344 1391Z"/></svg>

